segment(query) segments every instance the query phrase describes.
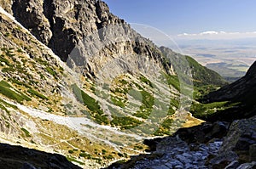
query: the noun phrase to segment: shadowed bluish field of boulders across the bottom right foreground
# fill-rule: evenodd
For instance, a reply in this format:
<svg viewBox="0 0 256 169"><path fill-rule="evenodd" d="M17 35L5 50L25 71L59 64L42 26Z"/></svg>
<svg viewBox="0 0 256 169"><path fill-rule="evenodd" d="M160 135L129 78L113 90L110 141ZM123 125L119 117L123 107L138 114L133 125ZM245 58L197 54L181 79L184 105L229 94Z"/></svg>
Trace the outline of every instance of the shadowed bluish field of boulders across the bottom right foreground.
<svg viewBox="0 0 256 169"><path fill-rule="evenodd" d="M240 168L253 169L255 161L256 116L250 119L206 123L178 130L174 137L146 140L149 155L108 168ZM229 129L228 129L229 128Z"/></svg>

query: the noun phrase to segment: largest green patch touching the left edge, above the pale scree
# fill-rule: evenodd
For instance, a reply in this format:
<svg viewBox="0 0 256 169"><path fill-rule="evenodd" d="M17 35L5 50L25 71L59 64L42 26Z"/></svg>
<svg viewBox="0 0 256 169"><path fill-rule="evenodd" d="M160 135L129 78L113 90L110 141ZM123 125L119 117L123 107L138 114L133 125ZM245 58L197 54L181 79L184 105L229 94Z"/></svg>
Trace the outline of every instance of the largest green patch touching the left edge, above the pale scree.
<svg viewBox="0 0 256 169"><path fill-rule="evenodd" d="M25 94L16 91L12 86L9 85L8 82L1 81L0 82L0 93L4 96L8 97L9 99L13 99L18 103L22 103L24 100L31 101L29 97Z"/></svg>

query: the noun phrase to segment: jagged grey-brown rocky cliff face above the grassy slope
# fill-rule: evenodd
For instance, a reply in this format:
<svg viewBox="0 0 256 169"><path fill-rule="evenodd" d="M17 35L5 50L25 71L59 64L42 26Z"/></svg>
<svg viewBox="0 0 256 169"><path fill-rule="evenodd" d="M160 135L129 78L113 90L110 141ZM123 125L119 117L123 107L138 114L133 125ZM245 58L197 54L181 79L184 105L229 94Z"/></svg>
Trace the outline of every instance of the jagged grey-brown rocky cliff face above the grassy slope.
<svg viewBox="0 0 256 169"><path fill-rule="evenodd" d="M160 63L156 65L164 67L171 75L175 74L172 70L174 64L171 63L174 60L166 63L166 59L161 54L163 51L133 31L124 20L111 14L107 4L102 1L17 0L10 2L9 5L16 20L30 30L39 41L51 48L61 60L74 62L73 64L86 70L90 75L97 74L102 66L111 62L111 57L127 54L137 55L133 58L136 67L130 68L129 71L142 67L142 59L138 55L144 55ZM164 55L169 55L168 59L174 59L176 54L166 50ZM120 67L125 67L127 70L129 67L127 62L131 62L131 59L127 57L120 59L125 59L123 63L126 63L126 65L119 63ZM206 75L212 75L211 70L206 68L194 70L206 71ZM205 78L214 79L212 82L217 85L224 84L224 80L220 77L198 78L195 75L195 78L195 82L201 82ZM212 82L202 84L212 84Z"/></svg>

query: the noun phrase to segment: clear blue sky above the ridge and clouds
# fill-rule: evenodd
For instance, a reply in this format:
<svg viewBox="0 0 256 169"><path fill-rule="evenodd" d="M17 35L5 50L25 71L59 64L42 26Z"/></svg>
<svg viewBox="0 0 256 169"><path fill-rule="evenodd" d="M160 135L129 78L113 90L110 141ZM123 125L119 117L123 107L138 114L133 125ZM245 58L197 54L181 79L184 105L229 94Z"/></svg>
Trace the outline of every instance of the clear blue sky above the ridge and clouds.
<svg viewBox="0 0 256 169"><path fill-rule="evenodd" d="M167 35L198 36L253 32L255 0L104 0L128 23L151 25ZM201 32L207 31L206 34ZM218 37L218 36L217 36Z"/></svg>

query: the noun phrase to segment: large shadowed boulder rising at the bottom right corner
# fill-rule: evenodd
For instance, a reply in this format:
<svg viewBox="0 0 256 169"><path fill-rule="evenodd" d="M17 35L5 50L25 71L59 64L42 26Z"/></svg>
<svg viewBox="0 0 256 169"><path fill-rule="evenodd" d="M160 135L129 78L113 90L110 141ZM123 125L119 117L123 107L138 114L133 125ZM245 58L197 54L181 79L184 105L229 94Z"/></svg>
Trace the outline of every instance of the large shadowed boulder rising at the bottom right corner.
<svg viewBox="0 0 256 169"><path fill-rule="evenodd" d="M252 163L254 161L255 167L255 144L256 116L234 121L226 137L224 137L218 155L212 158L209 163L213 168L224 168L225 165L236 163L235 161L240 163Z"/></svg>

